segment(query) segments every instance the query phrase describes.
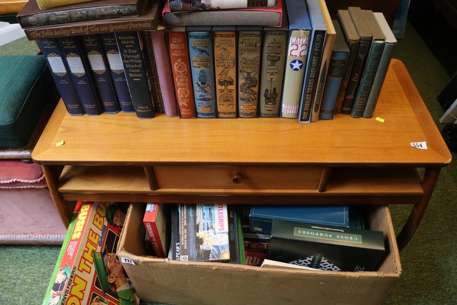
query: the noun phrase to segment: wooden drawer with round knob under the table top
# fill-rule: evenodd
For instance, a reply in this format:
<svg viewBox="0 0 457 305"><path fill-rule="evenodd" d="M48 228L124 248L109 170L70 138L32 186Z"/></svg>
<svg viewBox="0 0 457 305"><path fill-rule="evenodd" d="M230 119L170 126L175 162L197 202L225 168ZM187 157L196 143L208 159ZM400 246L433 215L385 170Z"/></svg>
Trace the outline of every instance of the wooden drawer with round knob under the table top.
<svg viewBox="0 0 457 305"><path fill-rule="evenodd" d="M153 166L159 188L317 189L322 167Z"/></svg>

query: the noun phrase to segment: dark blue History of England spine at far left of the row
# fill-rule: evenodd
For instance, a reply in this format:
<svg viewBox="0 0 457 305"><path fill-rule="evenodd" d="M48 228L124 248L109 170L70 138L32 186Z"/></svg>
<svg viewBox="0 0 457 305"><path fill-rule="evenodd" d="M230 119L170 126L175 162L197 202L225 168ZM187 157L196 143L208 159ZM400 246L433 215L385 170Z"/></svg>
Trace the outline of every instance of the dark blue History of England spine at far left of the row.
<svg viewBox="0 0 457 305"><path fill-rule="evenodd" d="M52 71L54 82L56 83L57 89L64 101L67 111L71 115L82 115L84 109L81 106L80 99L74 89L73 81L69 74L69 69L65 64L62 57L62 52L58 46L57 39L40 39L38 44L43 52L48 66Z"/></svg>

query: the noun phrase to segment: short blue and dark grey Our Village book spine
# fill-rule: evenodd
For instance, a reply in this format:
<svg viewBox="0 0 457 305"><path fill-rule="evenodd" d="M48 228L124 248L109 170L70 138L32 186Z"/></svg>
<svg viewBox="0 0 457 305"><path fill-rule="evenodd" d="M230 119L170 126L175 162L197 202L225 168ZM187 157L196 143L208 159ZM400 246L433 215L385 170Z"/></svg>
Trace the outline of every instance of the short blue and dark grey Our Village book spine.
<svg viewBox="0 0 457 305"><path fill-rule="evenodd" d="M337 34L338 35L338 34ZM325 81L324 96L320 107L319 120L333 119L336 99L340 91L341 80L346 67L348 52L332 52L330 58L329 72Z"/></svg>

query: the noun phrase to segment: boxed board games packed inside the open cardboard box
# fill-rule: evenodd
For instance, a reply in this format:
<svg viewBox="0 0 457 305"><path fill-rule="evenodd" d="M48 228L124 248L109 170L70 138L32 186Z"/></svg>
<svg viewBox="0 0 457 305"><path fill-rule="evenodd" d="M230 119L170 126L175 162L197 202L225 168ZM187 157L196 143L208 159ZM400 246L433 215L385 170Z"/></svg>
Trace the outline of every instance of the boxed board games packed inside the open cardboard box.
<svg viewBox="0 0 457 305"><path fill-rule="evenodd" d="M348 206L148 203L143 222L150 254L171 260L356 272L384 252L383 232L363 229Z"/></svg>

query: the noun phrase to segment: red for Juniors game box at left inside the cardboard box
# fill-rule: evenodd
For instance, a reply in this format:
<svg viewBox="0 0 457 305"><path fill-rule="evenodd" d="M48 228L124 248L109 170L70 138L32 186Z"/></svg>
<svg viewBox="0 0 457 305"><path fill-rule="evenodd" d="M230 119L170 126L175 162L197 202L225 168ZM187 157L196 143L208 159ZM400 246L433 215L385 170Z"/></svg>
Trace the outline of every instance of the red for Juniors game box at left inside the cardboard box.
<svg viewBox="0 0 457 305"><path fill-rule="evenodd" d="M170 248L170 205L148 203L143 217L144 227L155 256L167 257Z"/></svg>

